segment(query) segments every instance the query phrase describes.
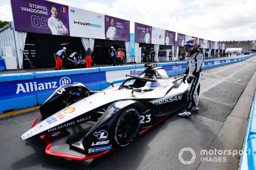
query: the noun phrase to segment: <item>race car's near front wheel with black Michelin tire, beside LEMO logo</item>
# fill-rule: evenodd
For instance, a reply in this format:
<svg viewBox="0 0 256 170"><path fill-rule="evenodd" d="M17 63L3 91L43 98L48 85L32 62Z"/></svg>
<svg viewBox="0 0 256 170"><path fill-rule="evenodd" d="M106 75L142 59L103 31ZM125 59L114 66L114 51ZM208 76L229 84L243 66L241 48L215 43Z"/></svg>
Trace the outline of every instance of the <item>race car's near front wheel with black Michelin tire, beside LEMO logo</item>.
<svg viewBox="0 0 256 170"><path fill-rule="evenodd" d="M117 119L114 142L118 147L130 144L136 137L140 127L140 115L137 109L127 108Z"/></svg>

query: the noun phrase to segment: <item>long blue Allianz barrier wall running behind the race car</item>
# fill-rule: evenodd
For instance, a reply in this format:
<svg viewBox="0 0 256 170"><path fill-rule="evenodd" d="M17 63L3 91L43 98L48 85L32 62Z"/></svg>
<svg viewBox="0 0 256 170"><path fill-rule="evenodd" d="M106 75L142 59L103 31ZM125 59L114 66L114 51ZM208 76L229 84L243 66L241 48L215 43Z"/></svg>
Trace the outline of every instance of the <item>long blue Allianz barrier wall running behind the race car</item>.
<svg viewBox="0 0 256 170"><path fill-rule="evenodd" d="M207 60L203 69L243 61L252 56ZM158 67L163 68L168 76L183 74L186 66L187 62L158 63ZM108 81L120 83L126 74L138 76L145 69L144 64L140 64L0 75L0 113L43 104L52 92L66 83L81 82L92 90L103 90L110 86Z"/></svg>

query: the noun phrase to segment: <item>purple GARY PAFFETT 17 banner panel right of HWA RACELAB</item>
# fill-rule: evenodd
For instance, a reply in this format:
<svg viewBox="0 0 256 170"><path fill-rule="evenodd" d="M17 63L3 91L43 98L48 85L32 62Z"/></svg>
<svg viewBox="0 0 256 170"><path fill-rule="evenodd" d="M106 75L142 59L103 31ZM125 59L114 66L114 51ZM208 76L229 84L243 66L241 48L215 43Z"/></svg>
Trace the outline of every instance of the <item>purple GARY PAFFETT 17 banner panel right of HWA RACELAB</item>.
<svg viewBox="0 0 256 170"><path fill-rule="evenodd" d="M130 41L130 21L105 15L105 39Z"/></svg>

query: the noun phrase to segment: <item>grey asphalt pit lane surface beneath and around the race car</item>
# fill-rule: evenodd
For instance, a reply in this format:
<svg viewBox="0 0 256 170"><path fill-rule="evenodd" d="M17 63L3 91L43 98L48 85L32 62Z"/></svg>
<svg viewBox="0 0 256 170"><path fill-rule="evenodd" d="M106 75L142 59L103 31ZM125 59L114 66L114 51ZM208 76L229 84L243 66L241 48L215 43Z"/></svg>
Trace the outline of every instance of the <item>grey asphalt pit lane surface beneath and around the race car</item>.
<svg viewBox="0 0 256 170"><path fill-rule="evenodd" d="M221 138L221 132L225 126L230 125L227 117L230 117L229 114L256 70L255 59L256 56L203 70L198 114L192 114L191 118L179 118L173 114L137 137L128 147L95 159L76 161L47 155L44 153L46 144L39 137L22 141L20 135L31 128L34 120L40 116L39 110L1 118L1 169L217 169L220 162L211 162L211 166L207 166L207 162L201 162L201 157L205 155L200 155L200 151L212 148L214 144L217 144L217 149L223 146L227 150L241 148L248 116L240 122L232 120L242 130L229 129L233 133L229 138L231 140L234 133L240 137L226 143ZM229 133L228 130L224 131ZM235 146L237 142L240 146ZM196 153L196 159L190 165L182 164L178 157L180 150L185 147L192 148ZM182 154L186 161L191 157L188 151ZM238 156L226 155L226 158L226 167L222 168L236 169Z"/></svg>

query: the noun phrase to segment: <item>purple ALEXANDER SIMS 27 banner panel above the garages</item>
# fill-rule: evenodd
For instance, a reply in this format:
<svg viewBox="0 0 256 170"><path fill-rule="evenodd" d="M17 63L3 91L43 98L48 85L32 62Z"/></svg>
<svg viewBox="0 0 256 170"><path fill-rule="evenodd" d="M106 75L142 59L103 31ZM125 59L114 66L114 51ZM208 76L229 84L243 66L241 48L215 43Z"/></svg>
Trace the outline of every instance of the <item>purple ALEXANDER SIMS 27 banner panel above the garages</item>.
<svg viewBox="0 0 256 170"><path fill-rule="evenodd" d="M134 23L135 42L151 44L152 26Z"/></svg>

